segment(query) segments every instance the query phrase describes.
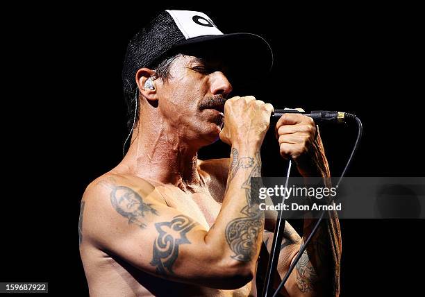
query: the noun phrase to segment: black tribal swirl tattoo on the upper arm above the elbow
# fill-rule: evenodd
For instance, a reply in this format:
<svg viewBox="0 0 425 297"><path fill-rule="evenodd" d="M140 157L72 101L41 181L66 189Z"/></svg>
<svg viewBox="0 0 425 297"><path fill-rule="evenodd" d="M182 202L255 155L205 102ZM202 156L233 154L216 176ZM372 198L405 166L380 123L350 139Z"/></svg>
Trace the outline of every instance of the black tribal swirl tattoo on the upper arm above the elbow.
<svg viewBox="0 0 425 297"><path fill-rule="evenodd" d="M173 274L172 266L178 257L178 246L190 244L186 237L196 223L183 214L178 215L170 222L155 223L158 237L153 242L152 266L156 266L156 273L160 275Z"/></svg>

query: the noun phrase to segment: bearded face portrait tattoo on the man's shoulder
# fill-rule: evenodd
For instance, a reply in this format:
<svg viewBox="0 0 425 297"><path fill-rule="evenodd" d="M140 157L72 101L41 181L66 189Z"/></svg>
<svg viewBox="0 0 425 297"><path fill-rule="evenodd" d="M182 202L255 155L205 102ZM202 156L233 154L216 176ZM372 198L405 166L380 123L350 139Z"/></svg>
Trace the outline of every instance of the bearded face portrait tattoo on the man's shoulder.
<svg viewBox="0 0 425 297"><path fill-rule="evenodd" d="M142 197L129 187L114 187L110 193L110 202L122 217L128 219L129 224L134 223L142 229L147 226L144 219L147 213L158 216L152 205L144 203Z"/></svg>

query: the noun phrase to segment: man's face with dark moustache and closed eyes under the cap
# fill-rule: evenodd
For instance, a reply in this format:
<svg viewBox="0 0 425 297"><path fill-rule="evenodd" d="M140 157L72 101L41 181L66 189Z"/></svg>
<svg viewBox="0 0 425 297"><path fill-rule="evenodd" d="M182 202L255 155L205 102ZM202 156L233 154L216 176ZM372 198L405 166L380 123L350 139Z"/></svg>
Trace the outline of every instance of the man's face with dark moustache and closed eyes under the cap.
<svg viewBox="0 0 425 297"><path fill-rule="evenodd" d="M180 137L203 146L218 139L232 86L217 60L178 56L157 88L158 108Z"/></svg>

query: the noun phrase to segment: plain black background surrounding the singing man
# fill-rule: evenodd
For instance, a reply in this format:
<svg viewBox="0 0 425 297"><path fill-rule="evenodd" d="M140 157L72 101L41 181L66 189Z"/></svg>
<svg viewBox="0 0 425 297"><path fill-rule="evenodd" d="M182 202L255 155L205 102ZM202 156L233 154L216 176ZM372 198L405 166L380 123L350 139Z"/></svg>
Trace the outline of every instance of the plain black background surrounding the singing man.
<svg viewBox="0 0 425 297"><path fill-rule="evenodd" d="M3 144L9 166L0 281L47 281L55 295L88 294L77 244L80 199L91 180L122 158L126 44L166 8L206 12L224 33L256 33L271 44L272 74L258 73L255 57L247 57L248 84L255 87L237 88L235 94L254 94L275 108L356 113L365 130L348 176L424 176L415 7L278 7L261 1L5 10L14 17L3 26L3 57L12 67L3 85L3 119L10 117L3 135L10 140ZM324 127L321 133L331 172L338 176L356 129ZM283 176L285 162L276 150L268 137L265 171ZM224 158L228 151L217 142L199 155ZM420 294L422 220L342 220L341 226L341 296Z"/></svg>

